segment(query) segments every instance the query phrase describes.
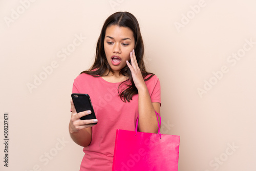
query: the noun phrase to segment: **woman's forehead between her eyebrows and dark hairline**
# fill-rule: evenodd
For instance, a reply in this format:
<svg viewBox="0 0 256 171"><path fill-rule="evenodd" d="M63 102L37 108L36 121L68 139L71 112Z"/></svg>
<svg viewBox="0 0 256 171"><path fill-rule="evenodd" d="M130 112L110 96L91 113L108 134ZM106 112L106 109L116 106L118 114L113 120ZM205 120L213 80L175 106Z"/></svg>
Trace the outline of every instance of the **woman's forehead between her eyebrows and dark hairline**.
<svg viewBox="0 0 256 171"><path fill-rule="evenodd" d="M117 25L112 25L106 28L105 37L110 36L115 39L118 38L130 38L134 39L133 31L128 27L119 27Z"/></svg>

